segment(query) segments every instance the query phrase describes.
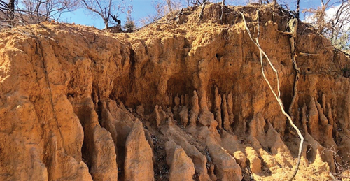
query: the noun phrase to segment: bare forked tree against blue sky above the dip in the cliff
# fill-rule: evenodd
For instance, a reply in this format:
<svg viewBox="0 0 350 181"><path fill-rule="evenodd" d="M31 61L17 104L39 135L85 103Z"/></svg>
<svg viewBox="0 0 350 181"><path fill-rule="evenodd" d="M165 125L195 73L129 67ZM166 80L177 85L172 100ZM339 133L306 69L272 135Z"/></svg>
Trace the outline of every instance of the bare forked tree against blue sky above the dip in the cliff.
<svg viewBox="0 0 350 181"><path fill-rule="evenodd" d="M105 29L109 29L111 20L114 20L116 24L120 26L118 15L122 13L125 8L123 1L119 1L119 3L116 4L115 1L112 0L81 0L81 3L87 10L102 17Z"/></svg>

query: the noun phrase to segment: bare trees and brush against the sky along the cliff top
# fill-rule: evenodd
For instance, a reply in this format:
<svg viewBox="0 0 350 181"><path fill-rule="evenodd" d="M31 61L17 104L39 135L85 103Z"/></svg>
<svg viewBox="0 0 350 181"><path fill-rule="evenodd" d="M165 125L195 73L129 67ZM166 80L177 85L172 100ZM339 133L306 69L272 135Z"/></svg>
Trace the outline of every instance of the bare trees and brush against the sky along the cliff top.
<svg viewBox="0 0 350 181"><path fill-rule="evenodd" d="M183 8L204 6L210 1L195 0L153 0L154 13L144 17L141 25L144 26L150 22L159 20L160 17L168 13L181 14ZM215 1L216 3L218 1ZM222 12L220 19L226 6L230 5L246 5L246 3L269 4L279 6L277 1L221 1ZM304 1L281 1L280 6L284 6L286 10L295 12L297 17L300 12L304 13L304 20L312 24L318 32L325 35L332 45L340 50L350 50L350 3L346 0L320 0L319 4L312 3L311 7L300 7L300 3ZM295 3L295 9L290 8ZM289 6L288 6L289 5ZM137 29L135 20L132 20L132 6L128 6L125 1L111 0L9 0L0 1L0 27L15 27L18 25L35 24L43 21L60 20L63 13L71 12L78 8L85 8L90 11L91 15L97 16L103 20L104 29L113 29L113 32L130 32ZM127 20L125 24L121 24L120 15L125 14ZM61 21L61 20L60 20ZM123 29L122 29L123 27Z"/></svg>

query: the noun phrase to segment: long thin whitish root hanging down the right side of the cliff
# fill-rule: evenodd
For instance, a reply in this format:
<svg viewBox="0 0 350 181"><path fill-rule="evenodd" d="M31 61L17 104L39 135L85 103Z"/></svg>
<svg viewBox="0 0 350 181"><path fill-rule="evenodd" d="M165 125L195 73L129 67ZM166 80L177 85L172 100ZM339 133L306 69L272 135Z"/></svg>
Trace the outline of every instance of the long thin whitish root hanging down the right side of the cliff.
<svg viewBox="0 0 350 181"><path fill-rule="evenodd" d="M259 11L257 12L259 13ZM283 113L283 115L285 115L288 118L288 121L290 123L290 125L293 126L293 128L295 129L295 131L297 131L297 135L300 137L300 146L299 146L299 153L297 155L297 165L295 166L295 170L293 172L293 175L290 176L290 178L288 178L288 180L293 180L293 178L295 177L297 170L299 169L299 165L300 165L300 158L301 158L301 154L302 154L302 144L304 143L304 137L302 136L302 133L300 132L300 130L297 128L297 126L295 126L295 124L292 121L292 118L286 113L286 111L283 108L283 103L280 99L281 96L281 92L279 90L279 75L278 72L276 70L276 68L274 68L274 66L272 65L271 61L269 60L269 57L267 57L266 53L264 52L264 50L262 50L260 43L258 41L258 37L257 38L253 38L251 36L251 31L249 31L248 26L246 25L246 19L244 18L244 14L241 13L241 16L243 17L244 20L244 25L246 27L246 31L248 32L249 38L251 38L251 41L253 41L253 43L258 47L258 49L260 50L260 64L261 64L261 72L262 75L265 79L265 82L267 82L267 85L269 85L269 89L271 90L272 94L274 94L274 97L276 98L277 102L279 103L279 107L281 108L281 111ZM259 17L259 16L258 16ZM258 24L259 24L259 20L258 20ZM260 30L259 30L260 31ZM259 35L258 35L259 36ZM254 41L255 39L255 41ZM271 84L269 83L269 80L267 80L265 72L264 72L264 66L262 64L262 55L264 55L264 57L267 59L267 62L269 63L269 66L271 66L272 70L276 73L276 79L277 79L277 94L276 92L274 92L274 89L272 89Z"/></svg>

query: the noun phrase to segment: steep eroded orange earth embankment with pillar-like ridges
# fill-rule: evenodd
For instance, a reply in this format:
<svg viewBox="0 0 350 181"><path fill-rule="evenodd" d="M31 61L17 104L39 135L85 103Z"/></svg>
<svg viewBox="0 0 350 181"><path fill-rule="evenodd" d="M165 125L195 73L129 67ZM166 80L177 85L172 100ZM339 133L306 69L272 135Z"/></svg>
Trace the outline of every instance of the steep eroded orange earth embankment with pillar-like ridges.
<svg viewBox="0 0 350 181"><path fill-rule="evenodd" d="M273 6L183 9L133 34L43 23L1 31L0 180L285 180L300 139L281 113L240 12L278 71L295 69ZM332 179L350 150L349 57L306 24L293 122L297 180ZM276 77L264 61L267 79ZM339 157L336 155L339 155ZM337 174L336 174L337 173Z"/></svg>

